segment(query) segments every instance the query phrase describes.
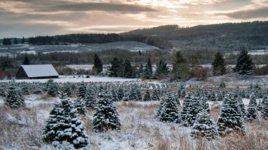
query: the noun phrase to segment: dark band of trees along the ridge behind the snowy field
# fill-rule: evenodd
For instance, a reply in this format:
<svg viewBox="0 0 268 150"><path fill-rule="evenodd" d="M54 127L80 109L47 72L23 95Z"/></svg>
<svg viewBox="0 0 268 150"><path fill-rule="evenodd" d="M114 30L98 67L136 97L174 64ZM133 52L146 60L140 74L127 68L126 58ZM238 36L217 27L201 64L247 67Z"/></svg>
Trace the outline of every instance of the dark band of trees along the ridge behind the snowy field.
<svg viewBox="0 0 268 150"><path fill-rule="evenodd" d="M149 44L159 49L172 49L172 44L165 40L160 40L152 36L144 35L119 35L116 33L108 34L68 34L55 36L37 36L29 38L29 44L67 44L67 43L107 43L119 41L135 41Z"/></svg>

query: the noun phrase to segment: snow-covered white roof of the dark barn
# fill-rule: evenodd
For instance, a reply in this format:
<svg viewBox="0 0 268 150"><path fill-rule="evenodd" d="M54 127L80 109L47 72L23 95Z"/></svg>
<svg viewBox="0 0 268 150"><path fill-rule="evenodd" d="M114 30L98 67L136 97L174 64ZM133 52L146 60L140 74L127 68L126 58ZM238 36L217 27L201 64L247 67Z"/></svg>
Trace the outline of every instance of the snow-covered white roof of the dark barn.
<svg viewBox="0 0 268 150"><path fill-rule="evenodd" d="M29 78L59 76L52 65L21 65Z"/></svg>

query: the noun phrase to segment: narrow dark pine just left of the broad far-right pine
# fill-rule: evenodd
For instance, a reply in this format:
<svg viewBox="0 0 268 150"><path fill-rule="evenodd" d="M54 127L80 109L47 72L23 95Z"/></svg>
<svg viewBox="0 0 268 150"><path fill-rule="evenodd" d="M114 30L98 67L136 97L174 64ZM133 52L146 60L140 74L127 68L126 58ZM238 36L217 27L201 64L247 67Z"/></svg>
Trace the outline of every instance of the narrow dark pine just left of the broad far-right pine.
<svg viewBox="0 0 268 150"><path fill-rule="evenodd" d="M218 76L218 75L223 75L226 72L226 67L225 67L225 60L223 58L223 55L221 52L217 52L216 55L214 56L214 60L212 63L213 67L213 75Z"/></svg>

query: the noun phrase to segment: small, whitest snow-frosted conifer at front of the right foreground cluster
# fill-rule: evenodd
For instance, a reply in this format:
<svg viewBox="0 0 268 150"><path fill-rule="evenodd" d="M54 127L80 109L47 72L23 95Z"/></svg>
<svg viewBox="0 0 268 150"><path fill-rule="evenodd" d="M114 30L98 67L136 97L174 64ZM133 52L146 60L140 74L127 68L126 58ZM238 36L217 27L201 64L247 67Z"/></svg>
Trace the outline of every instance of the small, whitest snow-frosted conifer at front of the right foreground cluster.
<svg viewBox="0 0 268 150"><path fill-rule="evenodd" d="M199 138L204 137L207 140L212 140L218 135L216 124L210 113L202 110L198 113L198 117L191 129L191 137Z"/></svg>

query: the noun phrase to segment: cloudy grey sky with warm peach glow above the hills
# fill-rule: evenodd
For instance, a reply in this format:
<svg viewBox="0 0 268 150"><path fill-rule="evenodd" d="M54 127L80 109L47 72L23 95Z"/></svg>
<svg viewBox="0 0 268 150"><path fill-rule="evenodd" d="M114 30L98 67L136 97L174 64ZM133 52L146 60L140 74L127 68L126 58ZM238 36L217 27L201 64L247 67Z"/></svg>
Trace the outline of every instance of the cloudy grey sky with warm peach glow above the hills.
<svg viewBox="0 0 268 150"><path fill-rule="evenodd" d="M268 0L0 0L0 38L268 20Z"/></svg>

